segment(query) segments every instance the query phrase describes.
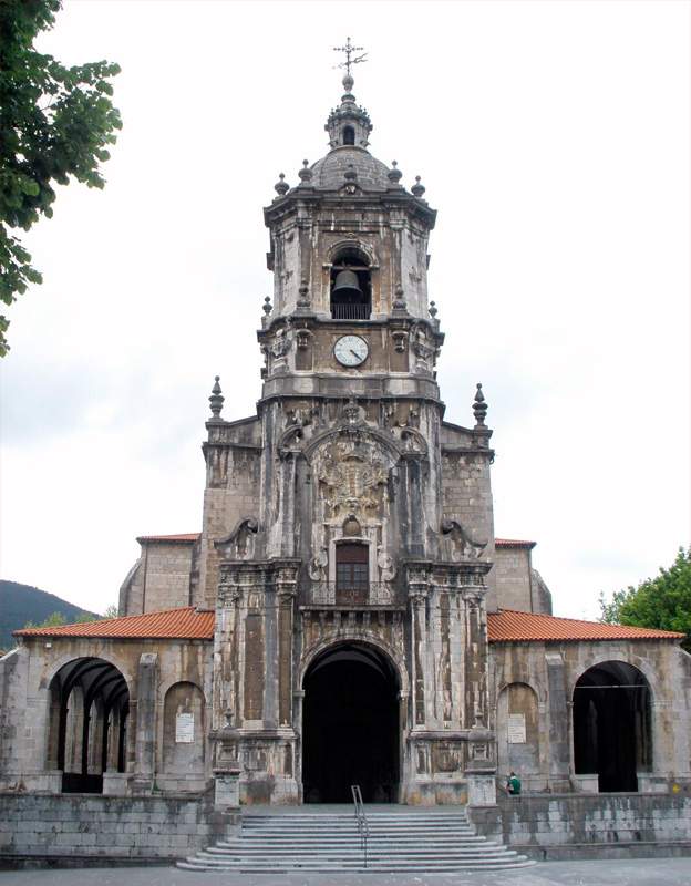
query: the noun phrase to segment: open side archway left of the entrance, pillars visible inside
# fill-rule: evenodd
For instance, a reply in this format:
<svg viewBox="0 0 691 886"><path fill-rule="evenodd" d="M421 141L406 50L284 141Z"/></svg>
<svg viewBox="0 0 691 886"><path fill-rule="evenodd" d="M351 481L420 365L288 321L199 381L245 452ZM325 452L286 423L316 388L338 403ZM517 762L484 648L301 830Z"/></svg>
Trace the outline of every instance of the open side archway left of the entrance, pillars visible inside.
<svg viewBox="0 0 691 886"><path fill-rule="evenodd" d="M101 793L103 773L125 771L130 690L101 658L64 664L50 684L48 767L62 770L68 793Z"/></svg>

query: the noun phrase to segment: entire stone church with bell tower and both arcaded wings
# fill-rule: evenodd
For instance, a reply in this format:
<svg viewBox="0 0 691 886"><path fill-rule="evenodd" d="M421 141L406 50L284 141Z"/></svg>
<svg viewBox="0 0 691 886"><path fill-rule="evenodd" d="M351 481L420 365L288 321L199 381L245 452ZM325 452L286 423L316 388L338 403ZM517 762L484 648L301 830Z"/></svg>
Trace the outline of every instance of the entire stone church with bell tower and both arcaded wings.
<svg viewBox="0 0 691 886"><path fill-rule="evenodd" d="M343 85L329 152L265 209L261 396L228 420L216 380L202 529L138 539L117 619L18 631L0 790L689 793L681 636L553 617L534 543L495 536L482 387L455 424L436 383L435 212Z"/></svg>

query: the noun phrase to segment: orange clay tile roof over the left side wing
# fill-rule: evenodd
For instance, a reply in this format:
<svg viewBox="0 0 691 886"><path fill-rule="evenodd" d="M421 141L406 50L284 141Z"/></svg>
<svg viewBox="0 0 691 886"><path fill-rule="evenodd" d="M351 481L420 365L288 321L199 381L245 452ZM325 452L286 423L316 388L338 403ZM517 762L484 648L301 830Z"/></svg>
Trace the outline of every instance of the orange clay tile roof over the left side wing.
<svg viewBox="0 0 691 886"><path fill-rule="evenodd" d="M214 610L164 609L143 616L106 618L81 625L61 625L58 628L23 628L13 631L16 637L94 637L133 640L212 640L214 638Z"/></svg>

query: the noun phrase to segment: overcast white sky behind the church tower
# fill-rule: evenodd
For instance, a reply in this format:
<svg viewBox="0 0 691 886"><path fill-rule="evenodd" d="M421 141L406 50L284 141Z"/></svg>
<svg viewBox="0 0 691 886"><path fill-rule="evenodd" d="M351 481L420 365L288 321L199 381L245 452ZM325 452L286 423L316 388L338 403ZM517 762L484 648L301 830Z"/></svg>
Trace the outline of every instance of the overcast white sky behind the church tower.
<svg viewBox="0 0 691 886"><path fill-rule="evenodd" d="M330 48L369 51L371 152L439 210L446 418L494 429L496 534L555 615L689 543L688 2L68 0L45 51L122 65L104 192L25 236L2 367L4 578L102 611L137 535L200 527L213 377L255 411L261 207L327 151Z"/></svg>

